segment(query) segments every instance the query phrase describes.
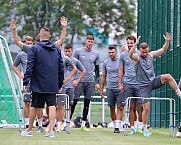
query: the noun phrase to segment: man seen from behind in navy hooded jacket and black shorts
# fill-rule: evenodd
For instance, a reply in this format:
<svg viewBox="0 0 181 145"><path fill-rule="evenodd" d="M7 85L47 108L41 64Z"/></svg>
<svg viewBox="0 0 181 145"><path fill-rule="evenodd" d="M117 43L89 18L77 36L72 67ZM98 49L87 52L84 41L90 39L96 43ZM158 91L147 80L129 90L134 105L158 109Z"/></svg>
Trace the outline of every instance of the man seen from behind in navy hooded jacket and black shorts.
<svg viewBox="0 0 181 145"><path fill-rule="evenodd" d="M44 108L46 102L49 108L50 127L46 137L54 137L53 127L56 114L56 93L60 90L64 79L64 68L60 49L49 41L50 30L46 27L40 30L40 42L32 46L28 52L27 69L24 75L23 87L31 80L32 104L29 128L22 136L32 136L32 126L38 108Z"/></svg>

